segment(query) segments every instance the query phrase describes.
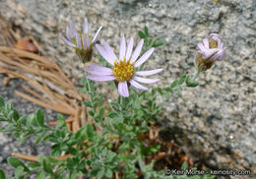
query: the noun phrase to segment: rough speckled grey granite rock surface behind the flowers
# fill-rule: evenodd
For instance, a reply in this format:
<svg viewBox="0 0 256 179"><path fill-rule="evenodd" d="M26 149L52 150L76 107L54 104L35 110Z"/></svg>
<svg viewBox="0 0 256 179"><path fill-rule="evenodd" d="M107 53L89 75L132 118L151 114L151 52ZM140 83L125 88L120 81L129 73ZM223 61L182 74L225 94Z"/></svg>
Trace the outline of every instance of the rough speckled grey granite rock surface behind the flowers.
<svg viewBox="0 0 256 179"><path fill-rule="evenodd" d="M220 33L226 60L200 76L200 87L183 89L169 101L160 98L167 116L160 122L170 140L209 167L256 173L255 0L2 0L0 9L7 21L35 36L41 52L56 58L74 82L84 75L83 65L58 36L70 20L82 27L87 17L93 33L103 25L100 39L115 52L121 34L137 37L144 26L165 38L147 63L164 68L160 87L194 73L196 44L209 32Z"/></svg>

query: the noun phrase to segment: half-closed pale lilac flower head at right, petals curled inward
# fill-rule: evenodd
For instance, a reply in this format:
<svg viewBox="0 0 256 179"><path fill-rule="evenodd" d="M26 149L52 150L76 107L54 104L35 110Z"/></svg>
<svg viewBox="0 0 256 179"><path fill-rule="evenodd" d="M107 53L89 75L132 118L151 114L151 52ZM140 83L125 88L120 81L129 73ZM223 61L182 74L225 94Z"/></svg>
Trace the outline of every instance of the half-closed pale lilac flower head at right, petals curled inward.
<svg viewBox="0 0 256 179"><path fill-rule="evenodd" d="M201 71L210 69L215 61L224 60L225 47L219 34L211 33L203 42L198 43L196 64Z"/></svg>

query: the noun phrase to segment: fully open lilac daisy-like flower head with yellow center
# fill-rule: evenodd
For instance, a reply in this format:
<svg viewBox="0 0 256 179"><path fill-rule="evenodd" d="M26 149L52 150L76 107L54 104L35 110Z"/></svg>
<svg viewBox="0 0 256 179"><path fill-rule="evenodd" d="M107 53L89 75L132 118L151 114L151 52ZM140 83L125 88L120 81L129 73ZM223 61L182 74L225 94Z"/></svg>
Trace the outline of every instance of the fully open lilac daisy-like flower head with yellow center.
<svg viewBox="0 0 256 179"><path fill-rule="evenodd" d="M86 71L91 75L88 79L92 81L112 81L115 80L118 83L118 92L122 96L129 96L128 84L136 89L148 90L146 87L140 85L153 84L160 81L160 79L146 79L138 76L149 76L158 74L162 69L150 70L150 71L136 71L136 68L141 66L152 55L155 48L149 49L140 58L139 55L142 50L144 40L141 39L135 48L133 54L133 37L128 41L126 47L125 37L122 36L120 42L119 58L116 57L110 46L104 41L103 46L96 44L96 49L100 55L111 65L112 69L101 67L94 63L88 63Z"/></svg>

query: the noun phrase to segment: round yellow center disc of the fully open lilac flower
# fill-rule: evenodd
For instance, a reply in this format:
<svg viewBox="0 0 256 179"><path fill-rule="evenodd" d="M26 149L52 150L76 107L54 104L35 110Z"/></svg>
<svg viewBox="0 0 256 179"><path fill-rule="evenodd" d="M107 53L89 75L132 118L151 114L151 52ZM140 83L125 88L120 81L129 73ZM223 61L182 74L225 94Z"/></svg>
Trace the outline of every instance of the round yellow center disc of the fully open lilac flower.
<svg viewBox="0 0 256 179"><path fill-rule="evenodd" d="M129 81L134 75L134 62L130 64L130 59L124 57L120 62L114 62L113 75L117 82Z"/></svg>

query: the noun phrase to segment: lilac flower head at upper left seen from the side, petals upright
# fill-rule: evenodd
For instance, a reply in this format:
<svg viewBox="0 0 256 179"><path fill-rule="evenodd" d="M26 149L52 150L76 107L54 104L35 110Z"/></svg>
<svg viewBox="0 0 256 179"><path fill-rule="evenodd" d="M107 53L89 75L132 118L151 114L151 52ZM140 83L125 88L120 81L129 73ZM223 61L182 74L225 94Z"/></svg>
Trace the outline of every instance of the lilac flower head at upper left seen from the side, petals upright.
<svg viewBox="0 0 256 179"><path fill-rule="evenodd" d="M96 35L92 39L92 36L89 34L89 24L87 18L85 18L82 33L77 31L75 24L71 21L70 25L66 28L67 38L65 38L62 34L60 34L60 38L67 45L74 47L77 55L84 63L86 63L92 59L93 46L96 44L101 28L102 26L96 31Z"/></svg>

